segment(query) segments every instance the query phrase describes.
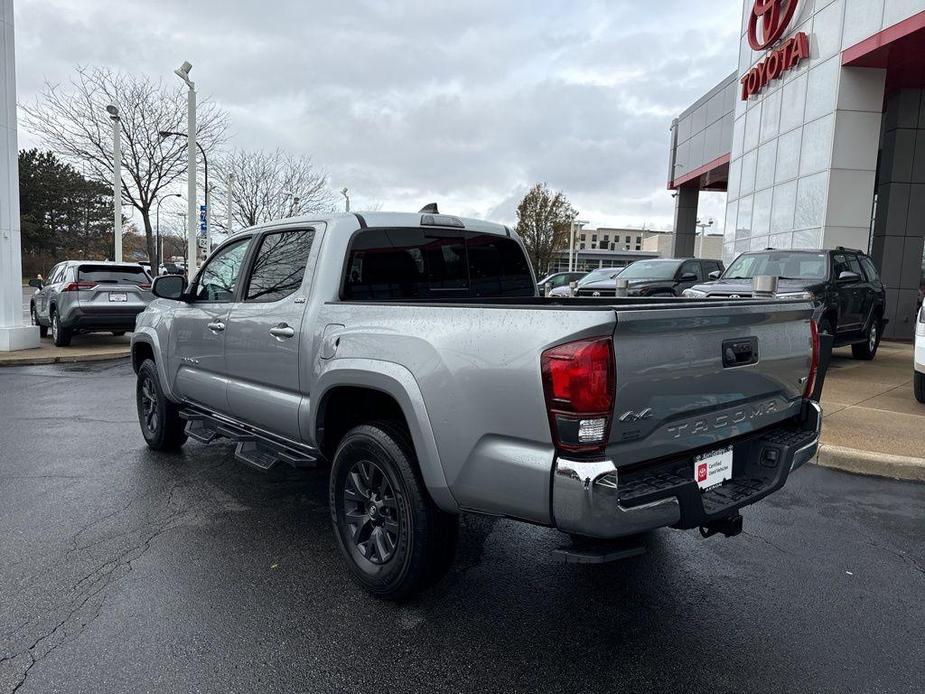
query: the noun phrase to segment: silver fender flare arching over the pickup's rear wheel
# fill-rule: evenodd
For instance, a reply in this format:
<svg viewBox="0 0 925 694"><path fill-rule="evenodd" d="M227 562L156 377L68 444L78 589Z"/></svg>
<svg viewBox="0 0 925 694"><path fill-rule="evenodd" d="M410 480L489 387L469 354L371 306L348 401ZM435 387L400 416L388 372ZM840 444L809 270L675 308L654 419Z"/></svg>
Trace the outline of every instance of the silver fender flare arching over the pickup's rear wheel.
<svg viewBox="0 0 925 694"><path fill-rule="evenodd" d="M458 513L459 504L450 492L430 425L424 396L411 372L400 364L376 359L334 359L318 377L309 407L307 438L318 441L318 412L325 395L338 386L371 388L392 396L405 415L417 453L424 484L436 504Z"/></svg>

